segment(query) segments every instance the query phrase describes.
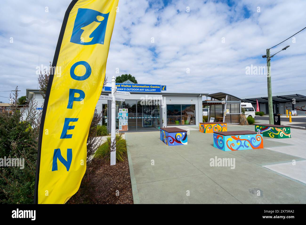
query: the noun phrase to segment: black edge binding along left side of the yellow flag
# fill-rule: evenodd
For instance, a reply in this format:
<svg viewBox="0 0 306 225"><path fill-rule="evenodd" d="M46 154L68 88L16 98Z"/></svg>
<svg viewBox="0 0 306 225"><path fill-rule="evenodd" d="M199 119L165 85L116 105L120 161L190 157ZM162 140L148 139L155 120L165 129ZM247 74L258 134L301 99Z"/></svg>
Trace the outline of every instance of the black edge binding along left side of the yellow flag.
<svg viewBox="0 0 306 225"><path fill-rule="evenodd" d="M66 30L66 25L67 25L67 21L68 21L68 18L69 18L69 14L70 14L71 10L73 9L73 7L75 6L77 1L78 0L73 0L69 4L69 6L66 10L65 16L64 16L62 28L61 28L61 31L60 31L59 37L58 37L58 43L56 45L56 49L55 49L55 53L54 53L52 68L50 70L50 76L49 76L49 81L48 81L48 85L47 85L47 92L46 92L46 96L45 96L45 101L43 103L43 113L42 113L42 117L41 117L41 121L40 121L38 150L37 150L37 163L36 163L35 189L34 189L34 204L38 204L38 182L39 182L41 144L42 144L42 139L43 139L43 126L44 126L44 123L45 123L47 105L48 105L51 86L52 86L53 77L54 77L54 69L53 68L56 68L56 65L57 65L58 55L59 55L59 52L61 50L62 41L63 41L64 33L65 33L65 30Z"/></svg>

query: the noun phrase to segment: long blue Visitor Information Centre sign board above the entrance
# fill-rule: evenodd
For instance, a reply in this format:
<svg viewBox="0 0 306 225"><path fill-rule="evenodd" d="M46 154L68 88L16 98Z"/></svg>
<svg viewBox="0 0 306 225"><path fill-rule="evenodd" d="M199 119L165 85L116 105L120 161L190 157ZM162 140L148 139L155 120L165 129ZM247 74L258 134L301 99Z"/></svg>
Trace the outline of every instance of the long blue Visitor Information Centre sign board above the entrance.
<svg viewBox="0 0 306 225"><path fill-rule="evenodd" d="M166 91L166 85L160 84L121 84L116 83L117 91L124 92L161 92ZM162 89L164 88L164 89ZM104 87L104 91L111 91L111 87Z"/></svg>

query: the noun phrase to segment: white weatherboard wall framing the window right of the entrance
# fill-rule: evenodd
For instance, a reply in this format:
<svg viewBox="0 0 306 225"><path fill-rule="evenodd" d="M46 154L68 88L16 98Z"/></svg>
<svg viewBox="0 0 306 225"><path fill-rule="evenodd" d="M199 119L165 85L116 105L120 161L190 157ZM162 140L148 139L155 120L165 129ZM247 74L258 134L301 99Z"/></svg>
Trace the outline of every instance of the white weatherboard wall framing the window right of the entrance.
<svg viewBox="0 0 306 225"><path fill-rule="evenodd" d="M162 119L164 121L163 126L167 126L167 105L185 105L185 104L186 105L196 105L196 112L195 112L196 113L196 125L199 126L199 122L203 122L202 96L162 95L162 97L163 97L163 100L165 101L165 103L162 106Z"/></svg>

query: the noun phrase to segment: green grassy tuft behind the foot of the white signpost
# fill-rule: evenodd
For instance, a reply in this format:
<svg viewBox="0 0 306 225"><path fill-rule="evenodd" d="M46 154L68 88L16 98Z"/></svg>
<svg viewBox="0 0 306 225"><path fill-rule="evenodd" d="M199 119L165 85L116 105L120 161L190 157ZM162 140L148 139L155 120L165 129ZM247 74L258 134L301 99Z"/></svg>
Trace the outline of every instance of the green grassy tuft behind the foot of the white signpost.
<svg viewBox="0 0 306 225"><path fill-rule="evenodd" d="M106 141L99 146L97 151L95 152L94 157L96 159L107 159L110 160L110 146L111 146L111 138L107 137ZM125 156L127 155L126 142L125 139L122 138L122 135L116 135L116 161L124 161Z"/></svg>

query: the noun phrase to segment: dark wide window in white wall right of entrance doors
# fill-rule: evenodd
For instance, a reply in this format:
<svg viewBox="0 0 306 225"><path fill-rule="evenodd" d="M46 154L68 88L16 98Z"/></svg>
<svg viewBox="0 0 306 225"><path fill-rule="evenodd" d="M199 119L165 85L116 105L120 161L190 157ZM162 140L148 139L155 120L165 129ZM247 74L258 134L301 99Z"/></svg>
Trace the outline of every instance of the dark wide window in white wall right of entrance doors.
<svg viewBox="0 0 306 225"><path fill-rule="evenodd" d="M196 105L167 105L167 126L195 125Z"/></svg>

